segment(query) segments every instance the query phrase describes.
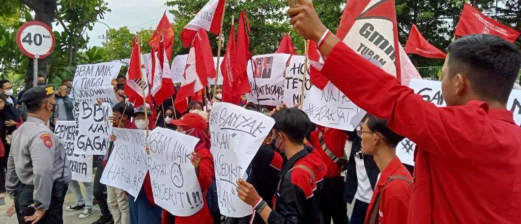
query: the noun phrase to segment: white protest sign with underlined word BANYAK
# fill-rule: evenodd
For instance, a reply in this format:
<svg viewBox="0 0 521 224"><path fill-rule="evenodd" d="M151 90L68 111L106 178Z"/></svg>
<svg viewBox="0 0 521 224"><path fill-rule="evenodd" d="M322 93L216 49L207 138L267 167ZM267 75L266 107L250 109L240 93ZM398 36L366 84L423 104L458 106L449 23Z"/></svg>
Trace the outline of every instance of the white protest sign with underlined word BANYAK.
<svg viewBox="0 0 521 224"><path fill-rule="evenodd" d="M244 217L252 207L237 195L235 182L243 175L275 120L262 113L229 103L215 103L210 114L219 210L228 217Z"/></svg>

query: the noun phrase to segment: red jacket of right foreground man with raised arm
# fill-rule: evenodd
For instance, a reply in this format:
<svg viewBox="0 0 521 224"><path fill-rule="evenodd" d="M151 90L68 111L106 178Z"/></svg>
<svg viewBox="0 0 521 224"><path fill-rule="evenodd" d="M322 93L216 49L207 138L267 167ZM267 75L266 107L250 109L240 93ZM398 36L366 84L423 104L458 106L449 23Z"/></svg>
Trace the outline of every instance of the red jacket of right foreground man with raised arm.
<svg viewBox="0 0 521 224"><path fill-rule="evenodd" d="M321 73L417 144L408 223L519 223L521 128L511 111L479 101L438 108L342 42Z"/></svg>

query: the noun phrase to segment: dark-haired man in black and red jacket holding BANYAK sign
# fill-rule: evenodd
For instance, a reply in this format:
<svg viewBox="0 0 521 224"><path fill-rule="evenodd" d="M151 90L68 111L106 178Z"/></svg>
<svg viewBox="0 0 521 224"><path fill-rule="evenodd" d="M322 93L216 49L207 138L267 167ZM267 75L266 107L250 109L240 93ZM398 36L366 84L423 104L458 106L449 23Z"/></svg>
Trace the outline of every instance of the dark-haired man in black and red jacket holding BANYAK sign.
<svg viewBox="0 0 521 224"><path fill-rule="evenodd" d="M304 137L309 130L309 118L304 111L282 108L272 116L274 149L288 159L278 174L280 180L275 194L275 207L271 209L257 193L252 184L239 179L237 192L242 201L254 207L268 223L324 223L320 213L316 189L316 178L323 177L325 166L312 156L313 148L304 146ZM300 121L300 122L295 122Z"/></svg>

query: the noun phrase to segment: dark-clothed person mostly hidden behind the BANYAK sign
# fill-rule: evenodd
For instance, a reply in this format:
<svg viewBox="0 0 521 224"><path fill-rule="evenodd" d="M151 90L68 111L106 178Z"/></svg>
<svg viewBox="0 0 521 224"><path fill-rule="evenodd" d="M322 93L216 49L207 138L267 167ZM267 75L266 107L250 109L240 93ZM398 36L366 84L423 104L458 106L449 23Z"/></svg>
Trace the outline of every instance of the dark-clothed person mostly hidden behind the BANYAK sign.
<svg viewBox="0 0 521 224"><path fill-rule="evenodd" d="M260 113L253 107L249 107ZM264 139L261 147L253 157L250 166L246 169L248 178L246 182L251 183L253 188L258 190L259 196L267 203L267 206L272 207L273 195L277 191L277 174L282 169L282 156L275 152L272 147L272 135L268 134ZM264 220L257 216L252 218L251 215L242 218L228 218L226 224L263 224Z"/></svg>

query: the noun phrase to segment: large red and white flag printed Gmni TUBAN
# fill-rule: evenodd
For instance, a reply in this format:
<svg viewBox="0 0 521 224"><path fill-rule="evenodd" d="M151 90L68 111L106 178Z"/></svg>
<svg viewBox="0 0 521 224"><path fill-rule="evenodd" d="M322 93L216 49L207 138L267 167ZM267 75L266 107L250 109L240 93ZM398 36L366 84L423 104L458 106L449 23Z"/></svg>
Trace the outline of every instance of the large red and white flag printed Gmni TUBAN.
<svg viewBox="0 0 521 224"><path fill-rule="evenodd" d="M401 80L394 0L348 1L337 36L358 54L380 61L384 71Z"/></svg>

